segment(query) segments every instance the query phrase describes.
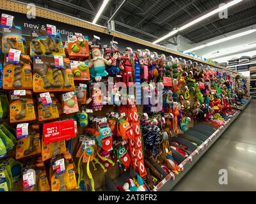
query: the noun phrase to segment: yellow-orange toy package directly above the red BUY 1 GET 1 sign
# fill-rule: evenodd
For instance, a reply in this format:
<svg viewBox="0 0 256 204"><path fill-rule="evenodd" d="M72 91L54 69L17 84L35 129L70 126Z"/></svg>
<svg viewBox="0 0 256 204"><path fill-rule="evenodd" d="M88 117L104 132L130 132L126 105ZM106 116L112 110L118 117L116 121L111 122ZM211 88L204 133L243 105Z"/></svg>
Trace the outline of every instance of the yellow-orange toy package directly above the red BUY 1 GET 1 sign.
<svg viewBox="0 0 256 204"><path fill-rule="evenodd" d="M38 96L38 120L45 121L51 119L58 119L60 117L58 112L58 107L56 104L56 99L54 94L49 94L51 98L51 103L45 103L40 96Z"/></svg>

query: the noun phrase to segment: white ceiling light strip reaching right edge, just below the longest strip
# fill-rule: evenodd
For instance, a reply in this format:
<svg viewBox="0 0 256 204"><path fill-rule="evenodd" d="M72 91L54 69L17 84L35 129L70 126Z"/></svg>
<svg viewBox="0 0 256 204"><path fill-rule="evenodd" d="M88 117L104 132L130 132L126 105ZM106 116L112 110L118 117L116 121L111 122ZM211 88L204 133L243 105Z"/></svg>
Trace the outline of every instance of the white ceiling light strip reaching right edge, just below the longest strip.
<svg viewBox="0 0 256 204"><path fill-rule="evenodd" d="M195 50L200 50L200 49L202 49L204 47L208 47L208 46L211 46L211 45L216 45L216 44L222 43L224 41L228 41L228 40L232 40L232 39L235 39L235 38L239 38L241 36L245 36L246 34L251 34L251 33L255 32L255 31L256 31L256 29L252 29L252 30L249 30L249 31L244 31L242 33L237 33L237 34L234 34L232 36L228 36L226 38L221 38L220 40L212 41L212 42L207 43L205 45L200 45L198 47L194 47L194 48L191 48L189 50L185 50L184 53L192 52L192 51L195 51Z"/></svg>

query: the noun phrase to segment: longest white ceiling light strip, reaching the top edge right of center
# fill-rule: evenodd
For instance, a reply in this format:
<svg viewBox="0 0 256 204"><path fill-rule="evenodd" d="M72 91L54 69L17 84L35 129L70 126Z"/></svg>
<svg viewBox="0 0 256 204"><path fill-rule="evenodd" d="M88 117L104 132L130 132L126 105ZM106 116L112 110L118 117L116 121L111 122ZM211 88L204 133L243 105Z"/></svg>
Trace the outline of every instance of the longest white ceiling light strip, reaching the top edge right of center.
<svg viewBox="0 0 256 204"><path fill-rule="evenodd" d="M194 25L194 24L197 24L198 22L204 20L205 18L209 18L211 17L212 15L214 15L215 13L218 13L220 11L223 11L227 8L229 8L230 6L234 6L235 4L241 2L243 0L234 0L234 1L230 1L229 3L223 5L223 6L220 6L219 8L216 8L216 10L213 10L213 11L210 11L209 13L203 15L202 17L199 17L199 18L196 18L195 20L189 22L188 24L186 25L183 25L182 27L180 27L179 29L177 30L174 30L176 32L170 32L168 34L166 34L165 36L163 36L162 38L159 38L158 40L154 41L153 43L156 44L156 43L159 43L160 41L163 41L164 39L166 38L169 38L170 36L173 36L174 34L178 33L178 31L182 31L188 27L190 27L191 25Z"/></svg>

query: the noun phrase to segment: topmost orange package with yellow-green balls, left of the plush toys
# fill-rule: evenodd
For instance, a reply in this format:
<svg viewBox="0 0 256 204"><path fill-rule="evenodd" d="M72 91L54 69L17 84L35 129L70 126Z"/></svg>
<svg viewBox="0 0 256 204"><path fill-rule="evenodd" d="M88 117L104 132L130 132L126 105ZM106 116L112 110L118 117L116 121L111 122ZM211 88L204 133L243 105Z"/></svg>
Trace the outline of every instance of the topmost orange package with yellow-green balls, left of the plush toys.
<svg viewBox="0 0 256 204"><path fill-rule="evenodd" d="M71 58L88 57L90 55L88 36L77 34L68 36L68 56Z"/></svg>

